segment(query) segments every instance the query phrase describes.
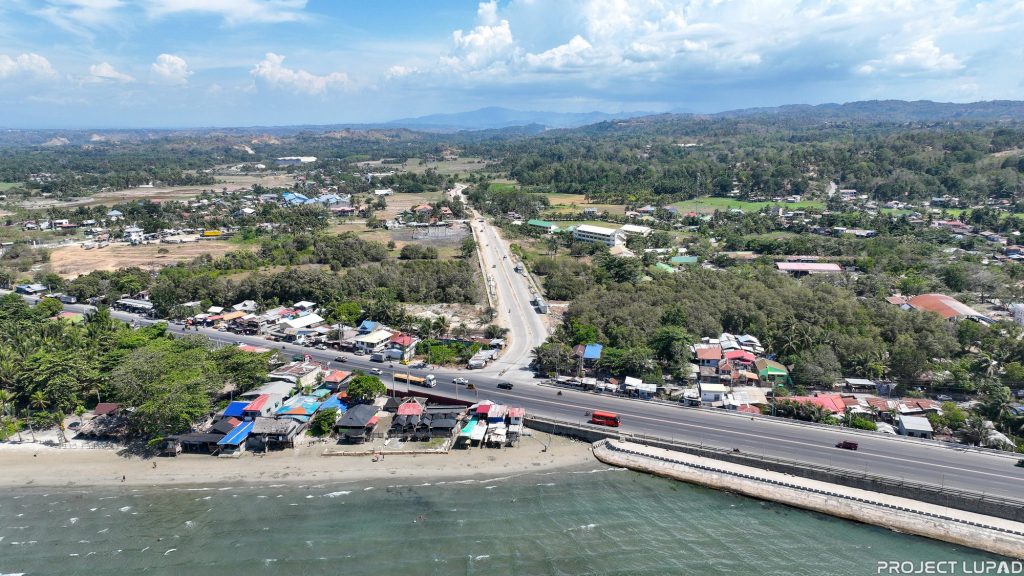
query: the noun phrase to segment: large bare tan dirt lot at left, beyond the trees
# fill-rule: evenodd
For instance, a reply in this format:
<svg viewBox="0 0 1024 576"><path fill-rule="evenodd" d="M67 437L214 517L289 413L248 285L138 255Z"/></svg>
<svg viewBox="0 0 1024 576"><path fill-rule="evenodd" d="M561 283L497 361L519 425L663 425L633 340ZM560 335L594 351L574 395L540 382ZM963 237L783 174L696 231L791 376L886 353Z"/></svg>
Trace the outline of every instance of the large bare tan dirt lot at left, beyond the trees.
<svg viewBox="0 0 1024 576"><path fill-rule="evenodd" d="M161 248L166 248L168 252L159 253ZM65 278L77 278L94 270L113 271L128 266L158 270L202 254L219 256L231 250L245 249L244 246L220 241L145 246L112 244L106 248L91 250L86 250L81 245L74 245L56 248L50 252L50 270Z"/></svg>

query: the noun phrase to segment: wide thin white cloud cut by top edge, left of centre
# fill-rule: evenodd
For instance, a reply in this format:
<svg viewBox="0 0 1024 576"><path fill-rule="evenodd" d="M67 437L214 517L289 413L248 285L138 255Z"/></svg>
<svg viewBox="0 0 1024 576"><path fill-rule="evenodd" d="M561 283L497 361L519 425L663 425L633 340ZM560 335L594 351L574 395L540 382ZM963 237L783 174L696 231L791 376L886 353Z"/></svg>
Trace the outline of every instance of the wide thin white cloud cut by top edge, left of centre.
<svg viewBox="0 0 1024 576"><path fill-rule="evenodd" d="M184 12L219 15L228 26L281 24L306 18L306 0L147 0L153 17Z"/></svg>

